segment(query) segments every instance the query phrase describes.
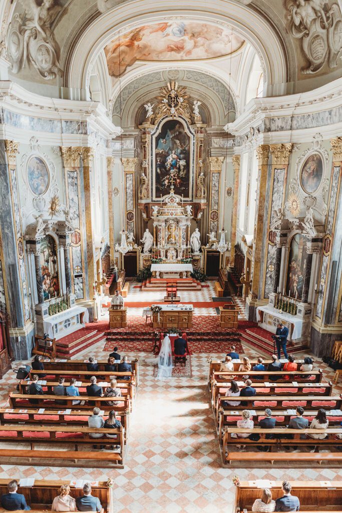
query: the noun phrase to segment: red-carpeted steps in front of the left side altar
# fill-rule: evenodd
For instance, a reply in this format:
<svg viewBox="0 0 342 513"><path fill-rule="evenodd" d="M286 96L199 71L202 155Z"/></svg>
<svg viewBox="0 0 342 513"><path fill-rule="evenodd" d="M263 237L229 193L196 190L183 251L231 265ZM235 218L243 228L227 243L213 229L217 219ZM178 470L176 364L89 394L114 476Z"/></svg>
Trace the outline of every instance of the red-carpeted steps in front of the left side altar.
<svg viewBox="0 0 342 513"><path fill-rule="evenodd" d="M106 336L103 331L86 326L56 341L57 356L72 358L75 354L104 340L106 340Z"/></svg>

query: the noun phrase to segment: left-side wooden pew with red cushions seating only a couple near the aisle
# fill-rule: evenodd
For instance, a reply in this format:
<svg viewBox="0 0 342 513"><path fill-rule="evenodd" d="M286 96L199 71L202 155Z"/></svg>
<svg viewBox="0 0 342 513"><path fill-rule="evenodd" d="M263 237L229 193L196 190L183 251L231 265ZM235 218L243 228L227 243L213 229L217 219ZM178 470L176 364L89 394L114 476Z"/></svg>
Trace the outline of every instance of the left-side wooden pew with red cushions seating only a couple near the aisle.
<svg viewBox="0 0 342 513"><path fill-rule="evenodd" d="M107 438L105 433L116 435L116 439ZM104 433L101 438L92 438L90 433ZM75 450L79 445L118 445L118 462L123 463L124 459L124 433L123 427L106 430L97 429L88 426L25 426L25 425L7 425L5 429L0 430L0 442L28 442L31 449L34 449L36 443L44 444L72 444Z"/></svg>

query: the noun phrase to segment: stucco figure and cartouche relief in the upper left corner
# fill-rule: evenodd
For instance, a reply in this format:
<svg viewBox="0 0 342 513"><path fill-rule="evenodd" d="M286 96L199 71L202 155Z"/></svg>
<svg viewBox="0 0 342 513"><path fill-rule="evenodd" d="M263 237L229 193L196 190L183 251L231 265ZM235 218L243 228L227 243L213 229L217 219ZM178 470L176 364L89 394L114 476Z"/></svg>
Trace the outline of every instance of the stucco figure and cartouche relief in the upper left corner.
<svg viewBox="0 0 342 513"><path fill-rule="evenodd" d="M25 9L15 13L7 34L7 48L13 73L31 63L39 75L51 80L62 76L59 68L59 48L51 26L62 6L58 0L19 0Z"/></svg>

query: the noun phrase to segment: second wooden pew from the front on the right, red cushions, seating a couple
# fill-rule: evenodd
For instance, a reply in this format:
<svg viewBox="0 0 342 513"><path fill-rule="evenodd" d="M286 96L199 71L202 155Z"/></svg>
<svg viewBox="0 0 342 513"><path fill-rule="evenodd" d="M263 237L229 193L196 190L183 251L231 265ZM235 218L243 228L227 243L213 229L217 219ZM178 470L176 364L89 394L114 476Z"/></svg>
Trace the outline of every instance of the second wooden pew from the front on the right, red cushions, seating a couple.
<svg viewBox="0 0 342 513"><path fill-rule="evenodd" d="M292 383L280 383L274 384L270 383L270 386L265 383L253 383L252 386L256 390L256 395L254 397L258 398L258 400L262 399L263 396L282 396L284 394L291 396L292 399L296 399L298 397L307 396L308 393L312 396L322 395L322 396L331 396L333 385L330 381L329 383L319 383L319 386L313 383L298 383L298 386L292 385ZM226 383L214 383L212 388L212 406L215 413L215 417L217 419L217 411L222 404L223 401L238 401L239 398L230 398L226 397L226 391L229 389L230 384ZM244 388L243 386L239 386L240 390ZM219 401L220 399L220 401ZM244 397L241 398L241 401L244 401ZM234 408L232 406L232 408Z"/></svg>

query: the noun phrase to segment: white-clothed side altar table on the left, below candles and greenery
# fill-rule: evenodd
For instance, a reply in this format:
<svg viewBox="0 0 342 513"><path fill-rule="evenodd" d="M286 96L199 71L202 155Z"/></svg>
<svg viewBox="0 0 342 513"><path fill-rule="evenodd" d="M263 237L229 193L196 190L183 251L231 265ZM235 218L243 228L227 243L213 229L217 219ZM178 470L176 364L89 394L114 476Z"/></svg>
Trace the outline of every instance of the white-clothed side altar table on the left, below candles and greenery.
<svg viewBox="0 0 342 513"><path fill-rule="evenodd" d="M80 315L83 315L81 323ZM74 306L64 312L55 313L44 319L44 333L48 333L50 339L61 339L73 331L81 329L89 321L89 312L84 306Z"/></svg>

